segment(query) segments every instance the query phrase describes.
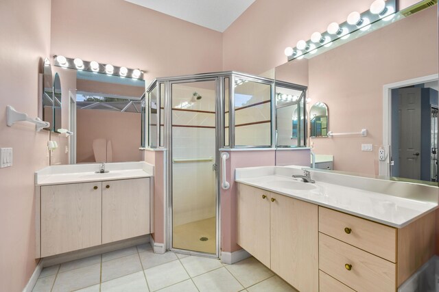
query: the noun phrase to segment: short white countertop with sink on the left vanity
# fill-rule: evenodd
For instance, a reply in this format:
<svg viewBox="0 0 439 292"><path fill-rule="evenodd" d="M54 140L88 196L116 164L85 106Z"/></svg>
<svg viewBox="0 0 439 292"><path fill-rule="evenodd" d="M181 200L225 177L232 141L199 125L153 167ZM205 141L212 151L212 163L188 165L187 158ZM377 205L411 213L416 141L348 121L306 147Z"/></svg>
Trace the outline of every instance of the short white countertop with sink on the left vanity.
<svg viewBox="0 0 439 292"><path fill-rule="evenodd" d="M99 170L99 163L49 166L35 172L35 185L115 181L154 176L154 166L143 161L106 163L105 166L108 172L103 174L95 173Z"/></svg>

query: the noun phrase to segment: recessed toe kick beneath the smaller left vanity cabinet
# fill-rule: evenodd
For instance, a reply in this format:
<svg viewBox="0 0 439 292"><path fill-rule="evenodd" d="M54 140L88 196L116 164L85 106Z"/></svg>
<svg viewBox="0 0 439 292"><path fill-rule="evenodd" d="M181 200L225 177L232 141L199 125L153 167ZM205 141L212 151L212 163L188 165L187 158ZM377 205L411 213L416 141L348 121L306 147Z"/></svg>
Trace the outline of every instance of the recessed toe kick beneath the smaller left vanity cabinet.
<svg viewBox="0 0 439 292"><path fill-rule="evenodd" d="M69 261L75 261L80 258L95 256L97 254L104 254L106 252L112 252L115 250L120 250L122 248L130 248L132 246L141 245L148 242L150 242L150 235L142 235L139 237L94 246L93 248L85 248L84 250L75 250L74 252L66 252L65 254L47 256L44 258L43 267L50 267L51 265L67 263Z"/></svg>

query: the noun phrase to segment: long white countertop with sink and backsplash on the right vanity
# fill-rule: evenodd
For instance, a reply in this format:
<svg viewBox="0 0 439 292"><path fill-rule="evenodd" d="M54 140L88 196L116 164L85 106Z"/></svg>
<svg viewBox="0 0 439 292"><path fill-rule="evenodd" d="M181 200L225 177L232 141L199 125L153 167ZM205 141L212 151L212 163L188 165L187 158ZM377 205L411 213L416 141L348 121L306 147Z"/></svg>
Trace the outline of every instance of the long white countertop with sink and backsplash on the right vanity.
<svg viewBox="0 0 439 292"><path fill-rule="evenodd" d="M292 174L302 174L300 169L265 167L262 172L261 169L263 168L237 169L235 181L396 228L403 228L418 217L438 209L438 187L377 179L374 182L370 181L371 178L355 176L351 185L348 181L350 178L346 176L346 185L340 185L337 183L340 178L331 177L339 174L312 170L311 178L316 183L302 183L292 178ZM361 182L361 179L366 181ZM358 188L352 187L352 183L358 185ZM365 187L367 185L370 185L369 189ZM405 187L407 192L416 191L417 194L385 194L385 189L392 186L396 192Z"/></svg>

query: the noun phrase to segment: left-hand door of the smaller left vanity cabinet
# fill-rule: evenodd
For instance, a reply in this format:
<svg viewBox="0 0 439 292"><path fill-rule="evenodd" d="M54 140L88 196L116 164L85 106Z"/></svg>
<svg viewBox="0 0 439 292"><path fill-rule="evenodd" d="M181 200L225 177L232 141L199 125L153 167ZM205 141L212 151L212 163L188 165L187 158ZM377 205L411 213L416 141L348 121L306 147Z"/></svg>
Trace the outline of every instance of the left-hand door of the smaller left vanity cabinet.
<svg viewBox="0 0 439 292"><path fill-rule="evenodd" d="M41 257L101 244L101 183L41 187Z"/></svg>

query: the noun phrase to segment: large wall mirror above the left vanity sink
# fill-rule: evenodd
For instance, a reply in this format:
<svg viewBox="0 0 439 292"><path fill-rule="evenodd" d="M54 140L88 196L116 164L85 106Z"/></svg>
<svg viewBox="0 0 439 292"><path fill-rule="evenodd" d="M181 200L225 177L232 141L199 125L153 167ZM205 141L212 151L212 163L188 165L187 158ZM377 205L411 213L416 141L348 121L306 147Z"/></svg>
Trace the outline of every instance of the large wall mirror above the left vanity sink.
<svg viewBox="0 0 439 292"><path fill-rule="evenodd" d="M145 81L71 68L58 73L69 96L62 103L69 107L63 128L73 132L70 163L141 161Z"/></svg>

